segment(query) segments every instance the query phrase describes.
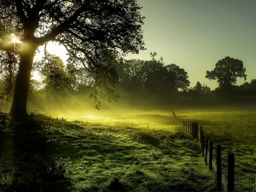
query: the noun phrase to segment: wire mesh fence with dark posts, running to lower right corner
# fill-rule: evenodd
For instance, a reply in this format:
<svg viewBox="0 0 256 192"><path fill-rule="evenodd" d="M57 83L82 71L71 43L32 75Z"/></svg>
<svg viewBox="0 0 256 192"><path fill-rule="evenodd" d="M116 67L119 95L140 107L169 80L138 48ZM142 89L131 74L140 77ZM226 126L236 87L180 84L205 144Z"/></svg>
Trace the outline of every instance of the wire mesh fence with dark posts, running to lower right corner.
<svg viewBox="0 0 256 192"><path fill-rule="evenodd" d="M209 165L209 169L216 175L220 191L256 191L256 170L229 161L228 158L221 158L221 156L227 157L227 154L221 154L221 147L218 160L218 147L213 145L213 141L209 143L209 138L205 141L202 126L199 129L197 122L189 122L178 118L174 112L172 115L177 119L178 124L184 131L201 142L205 163Z"/></svg>

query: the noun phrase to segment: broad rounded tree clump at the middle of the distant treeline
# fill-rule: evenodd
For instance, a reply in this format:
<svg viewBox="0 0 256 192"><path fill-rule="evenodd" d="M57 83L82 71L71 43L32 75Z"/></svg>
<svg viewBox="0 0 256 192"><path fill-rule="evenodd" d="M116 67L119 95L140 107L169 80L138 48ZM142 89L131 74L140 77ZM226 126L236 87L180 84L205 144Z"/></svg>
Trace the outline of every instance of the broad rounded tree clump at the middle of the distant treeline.
<svg viewBox="0 0 256 192"><path fill-rule="evenodd" d="M175 64L163 65L156 60L125 60L120 70L121 86L128 90L145 88L151 93L170 94L187 90L188 73Z"/></svg>

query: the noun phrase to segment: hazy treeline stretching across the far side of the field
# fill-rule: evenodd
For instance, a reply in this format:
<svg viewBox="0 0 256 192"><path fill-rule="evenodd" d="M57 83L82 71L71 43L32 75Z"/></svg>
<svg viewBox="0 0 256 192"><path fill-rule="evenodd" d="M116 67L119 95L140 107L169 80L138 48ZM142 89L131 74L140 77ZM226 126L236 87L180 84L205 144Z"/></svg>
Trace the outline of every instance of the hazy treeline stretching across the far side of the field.
<svg viewBox="0 0 256 192"><path fill-rule="evenodd" d="M151 60L143 61L117 59L110 55L108 59L102 60L99 76L95 77L90 67L76 65L72 60L64 65L59 57L45 52L42 60L33 65L32 70L40 74L42 81L30 81L28 109L51 113L56 108L61 109L61 106L76 108L81 102L100 108L99 98L109 102L126 100L129 104L133 104L136 99L145 103L179 104L195 101L209 103L221 99L239 101L250 98L252 101L256 98L256 79L236 85L237 77L246 79L243 61L230 57L219 60L214 70L206 72L205 77L219 83L218 88L211 90L200 82L191 86L184 68L174 63L164 63L163 57L156 60L156 52L150 53L150 56ZM10 109L17 61L19 58L12 52L1 52L2 111ZM108 78L102 78L102 73ZM88 97L92 99L90 104L86 100Z"/></svg>

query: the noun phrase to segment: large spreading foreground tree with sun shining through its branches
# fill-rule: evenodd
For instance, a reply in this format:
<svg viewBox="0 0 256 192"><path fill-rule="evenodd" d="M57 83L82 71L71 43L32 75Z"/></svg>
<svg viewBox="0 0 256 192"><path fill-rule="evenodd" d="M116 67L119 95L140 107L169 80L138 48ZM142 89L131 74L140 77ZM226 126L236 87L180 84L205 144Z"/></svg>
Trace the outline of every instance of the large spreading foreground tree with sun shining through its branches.
<svg viewBox="0 0 256 192"><path fill-rule="evenodd" d="M93 77L103 74L107 79L116 71L102 73L106 66L100 60L108 55L106 52L117 57L145 49L143 17L136 0L0 0L0 7L1 37L5 37L1 38L0 49L13 47L6 38L10 33L18 35L22 42L22 47L12 49L20 56L10 111L13 118L26 115L33 58L40 45L59 42L70 58ZM6 20L12 21L12 28Z"/></svg>

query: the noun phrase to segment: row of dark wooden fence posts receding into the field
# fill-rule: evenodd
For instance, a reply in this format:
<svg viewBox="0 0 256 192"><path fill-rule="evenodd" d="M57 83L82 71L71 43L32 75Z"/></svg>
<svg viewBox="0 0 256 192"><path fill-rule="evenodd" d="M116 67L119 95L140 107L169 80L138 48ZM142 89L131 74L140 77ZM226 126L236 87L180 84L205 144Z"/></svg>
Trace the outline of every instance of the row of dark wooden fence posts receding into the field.
<svg viewBox="0 0 256 192"><path fill-rule="evenodd" d="M237 169L237 167L235 169L235 155L228 154L227 163L221 161L221 145L213 145L212 140L209 140L207 137L205 138L202 126L199 127L197 122L190 122L178 118L173 111L172 115L184 131L200 141L202 157L205 159L205 164L209 166L209 170L216 176L218 191L240 191L238 188L235 189L235 170ZM226 174L223 174L223 170L225 170ZM256 190L254 184L252 191Z"/></svg>

